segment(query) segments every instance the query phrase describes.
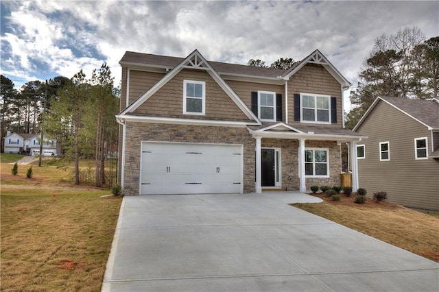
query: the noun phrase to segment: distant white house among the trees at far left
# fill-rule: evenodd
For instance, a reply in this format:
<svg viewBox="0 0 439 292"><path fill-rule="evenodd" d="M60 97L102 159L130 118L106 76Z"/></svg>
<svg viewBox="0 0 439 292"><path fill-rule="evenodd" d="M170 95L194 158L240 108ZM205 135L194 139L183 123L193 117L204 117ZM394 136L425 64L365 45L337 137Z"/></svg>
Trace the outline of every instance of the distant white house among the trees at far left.
<svg viewBox="0 0 439 292"><path fill-rule="evenodd" d="M40 154L41 134L17 134L8 131L5 136L5 153L38 155ZM55 139L44 138L43 156L59 154L59 145Z"/></svg>

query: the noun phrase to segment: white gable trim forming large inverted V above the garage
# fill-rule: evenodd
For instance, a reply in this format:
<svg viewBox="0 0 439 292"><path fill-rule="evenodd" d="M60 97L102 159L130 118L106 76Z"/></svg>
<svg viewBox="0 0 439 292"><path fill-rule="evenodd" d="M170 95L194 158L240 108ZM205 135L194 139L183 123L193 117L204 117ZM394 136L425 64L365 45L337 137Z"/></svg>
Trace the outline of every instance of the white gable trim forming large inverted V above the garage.
<svg viewBox="0 0 439 292"><path fill-rule="evenodd" d="M157 56L154 55L153 59L157 59L157 63L163 62L163 58L155 58L155 57L157 57ZM173 60L176 61L175 59L173 59ZM259 123L259 119L253 114L253 112L248 108L248 106L246 106L246 104L244 104L244 101L242 101L237 96L235 91L233 91L232 88L230 88L230 86L228 86L228 84L226 84L226 82L224 82L224 80L222 79L222 77L219 76L217 71L215 69L213 69L211 64L209 64L209 62L197 50L190 53L189 56L187 56L185 59L182 59L160 81L158 81L156 84L154 84L154 86L152 86L152 88L147 90L147 92L143 93L143 95L141 95L132 104L130 104L130 106L128 106L128 108L123 110L119 114L119 116L123 115L123 114L128 114L129 112L133 112L134 110L139 108L139 106L141 106L141 104L143 104L147 99L149 99L152 95L154 95L154 93L156 93L157 90L159 90L162 86L164 86L167 82L169 82L169 80L174 78L178 73L180 73L180 71L182 71L185 68L205 70L207 73L209 73L209 75L211 75L213 80L215 80L215 82L217 82L219 87L221 87L222 90L224 90L224 92L228 95L228 97L230 97L230 99L232 99L232 101L235 102L235 104L246 115L246 117L248 117L248 119L250 119L252 121L257 121Z"/></svg>

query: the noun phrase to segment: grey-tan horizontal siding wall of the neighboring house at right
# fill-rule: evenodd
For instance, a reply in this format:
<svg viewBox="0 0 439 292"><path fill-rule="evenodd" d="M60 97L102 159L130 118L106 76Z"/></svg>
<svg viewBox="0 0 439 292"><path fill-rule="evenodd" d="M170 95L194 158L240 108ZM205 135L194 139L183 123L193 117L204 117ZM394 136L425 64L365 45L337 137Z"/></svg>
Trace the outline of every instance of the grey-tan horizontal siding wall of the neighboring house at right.
<svg viewBox="0 0 439 292"><path fill-rule="evenodd" d="M386 191L388 201L411 208L439 210L439 160L416 160L414 138L431 132L414 119L379 101L357 132L368 136L366 158L358 160L359 186L368 196ZM379 160L379 143L389 141L390 161ZM429 149L431 151L431 149Z"/></svg>

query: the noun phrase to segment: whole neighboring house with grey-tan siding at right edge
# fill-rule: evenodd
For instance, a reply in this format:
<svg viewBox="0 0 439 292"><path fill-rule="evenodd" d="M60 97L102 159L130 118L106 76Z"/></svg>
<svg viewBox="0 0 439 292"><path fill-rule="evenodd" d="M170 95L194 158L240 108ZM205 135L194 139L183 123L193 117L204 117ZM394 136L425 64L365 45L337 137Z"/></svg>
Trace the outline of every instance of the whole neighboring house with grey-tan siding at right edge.
<svg viewBox="0 0 439 292"><path fill-rule="evenodd" d="M379 97L355 125L359 187L394 204L439 210L439 100ZM355 154L354 154L355 155Z"/></svg>

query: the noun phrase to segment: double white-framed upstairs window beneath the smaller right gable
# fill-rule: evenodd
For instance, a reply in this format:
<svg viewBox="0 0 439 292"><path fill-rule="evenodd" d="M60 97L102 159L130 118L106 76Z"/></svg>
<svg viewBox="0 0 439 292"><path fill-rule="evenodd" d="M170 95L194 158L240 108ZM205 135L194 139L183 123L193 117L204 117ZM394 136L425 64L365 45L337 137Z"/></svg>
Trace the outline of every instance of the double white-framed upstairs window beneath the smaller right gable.
<svg viewBox="0 0 439 292"><path fill-rule="evenodd" d="M300 93L300 121L307 123L331 123L331 97Z"/></svg>

